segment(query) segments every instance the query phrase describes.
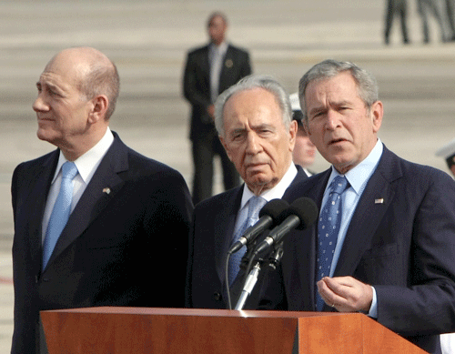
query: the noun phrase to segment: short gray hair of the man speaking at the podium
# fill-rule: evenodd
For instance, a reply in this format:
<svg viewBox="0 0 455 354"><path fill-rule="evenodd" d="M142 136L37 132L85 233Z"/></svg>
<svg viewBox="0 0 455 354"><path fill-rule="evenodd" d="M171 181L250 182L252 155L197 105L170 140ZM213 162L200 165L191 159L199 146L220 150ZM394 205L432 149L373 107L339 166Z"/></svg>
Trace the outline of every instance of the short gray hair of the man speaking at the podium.
<svg viewBox="0 0 455 354"><path fill-rule="evenodd" d="M337 76L345 71L349 71L350 75L357 83L359 97L368 109L378 101L378 83L374 76L369 74L367 70L349 62L339 62L332 59L324 60L311 67L298 83L298 98L306 125L308 125L307 105L305 101L305 90L307 89L307 86L314 81L322 81Z"/></svg>

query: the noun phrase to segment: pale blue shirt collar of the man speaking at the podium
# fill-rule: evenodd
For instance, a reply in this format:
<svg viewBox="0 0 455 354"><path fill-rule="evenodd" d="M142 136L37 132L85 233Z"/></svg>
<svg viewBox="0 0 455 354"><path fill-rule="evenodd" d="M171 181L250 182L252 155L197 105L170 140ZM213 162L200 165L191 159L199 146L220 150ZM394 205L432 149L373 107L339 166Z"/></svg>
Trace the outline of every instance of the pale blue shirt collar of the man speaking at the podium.
<svg viewBox="0 0 455 354"><path fill-rule="evenodd" d="M359 163L358 166L349 169L348 172L344 175L349 182L350 187L354 189L354 191L359 194L361 187L364 185L366 181L369 180L369 177L373 174L374 170L379 164L379 159L382 155L383 145L380 139L376 142L376 145L373 147L369 156L366 157L362 162ZM330 186L333 178L337 176L342 176L339 172L332 166L332 172L329 177L329 182L327 187Z"/></svg>

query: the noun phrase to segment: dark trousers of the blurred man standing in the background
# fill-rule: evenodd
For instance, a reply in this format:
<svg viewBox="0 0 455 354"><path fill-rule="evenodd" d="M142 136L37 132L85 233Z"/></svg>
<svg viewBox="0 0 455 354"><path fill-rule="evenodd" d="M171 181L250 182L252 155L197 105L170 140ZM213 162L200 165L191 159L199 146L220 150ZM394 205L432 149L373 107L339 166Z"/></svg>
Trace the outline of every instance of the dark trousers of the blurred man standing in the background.
<svg viewBox="0 0 455 354"><path fill-rule="evenodd" d="M207 133L205 137L193 139L193 203L212 197L213 189L213 160L215 156L221 159L223 168L223 185L225 190L238 187L240 177L236 167L227 157L217 134Z"/></svg>

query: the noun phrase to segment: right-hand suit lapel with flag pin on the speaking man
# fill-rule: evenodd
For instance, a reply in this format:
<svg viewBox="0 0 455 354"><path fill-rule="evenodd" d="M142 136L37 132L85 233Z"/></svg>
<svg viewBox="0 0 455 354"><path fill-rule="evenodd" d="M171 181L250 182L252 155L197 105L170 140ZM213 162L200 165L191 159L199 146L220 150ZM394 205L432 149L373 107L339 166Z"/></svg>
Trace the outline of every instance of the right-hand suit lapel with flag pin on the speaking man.
<svg viewBox="0 0 455 354"><path fill-rule="evenodd" d="M352 275L362 255L370 248L371 239L395 196L390 182L401 176L396 162L397 159L384 147L377 170L370 177L349 223L334 277ZM365 215L368 215L368 222Z"/></svg>

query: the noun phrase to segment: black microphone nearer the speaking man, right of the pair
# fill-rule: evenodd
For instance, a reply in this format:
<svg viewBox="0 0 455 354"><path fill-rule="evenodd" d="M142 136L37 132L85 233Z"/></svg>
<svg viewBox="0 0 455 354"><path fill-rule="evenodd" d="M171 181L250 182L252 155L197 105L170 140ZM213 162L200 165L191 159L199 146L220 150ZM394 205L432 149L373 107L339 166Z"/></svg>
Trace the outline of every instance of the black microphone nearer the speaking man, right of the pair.
<svg viewBox="0 0 455 354"><path fill-rule="evenodd" d="M265 238L255 249L255 254L262 253L273 244L278 245L281 240L293 228L304 230L311 226L319 215L316 203L308 197L299 197L288 208L284 214L284 221L273 228L268 237Z"/></svg>

